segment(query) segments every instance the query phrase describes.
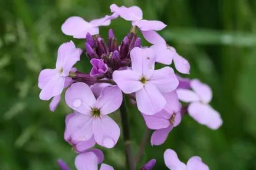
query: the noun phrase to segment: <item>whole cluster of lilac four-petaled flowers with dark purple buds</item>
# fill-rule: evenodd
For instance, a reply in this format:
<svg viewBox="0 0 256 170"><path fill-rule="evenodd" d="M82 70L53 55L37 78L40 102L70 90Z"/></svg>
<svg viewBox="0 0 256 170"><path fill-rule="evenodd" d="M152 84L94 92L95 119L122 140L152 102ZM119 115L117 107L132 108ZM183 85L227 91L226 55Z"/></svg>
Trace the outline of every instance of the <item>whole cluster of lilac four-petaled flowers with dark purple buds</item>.
<svg viewBox="0 0 256 170"><path fill-rule="evenodd" d="M93 148L96 144L104 148L113 148L117 144L120 128L110 115L125 107L125 98L130 98L137 106L147 128L154 130L152 146L163 144L187 113L208 128L218 129L222 125L221 116L209 105L211 88L198 79L178 75L189 74L190 65L156 32L166 25L143 19L138 6L127 8L112 4L110 11L111 15L90 22L72 16L61 27L65 35L86 39L84 50L92 65L89 74L73 67L83 50L70 41L58 49L55 69L42 70L38 78L40 99L51 99L51 111L57 108L61 93L66 89L65 103L73 113L66 116L64 139L78 154L75 160L78 170L97 169L103 162L103 152ZM120 45L110 29L106 44L100 37L99 27L110 25L111 19L117 17L132 22L132 29ZM137 31L142 32L152 46L142 46ZM170 67L172 61L175 70ZM155 69L157 63L166 66ZM172 170L209 169L198 156L193 156L185 165L172 149L166 150L164 158L166 166ZM155 162L152 159L141 169L152 169ZM58 163L62 169L68 169L63 161ZM113 167L101 164L100 169Z"/></svg>

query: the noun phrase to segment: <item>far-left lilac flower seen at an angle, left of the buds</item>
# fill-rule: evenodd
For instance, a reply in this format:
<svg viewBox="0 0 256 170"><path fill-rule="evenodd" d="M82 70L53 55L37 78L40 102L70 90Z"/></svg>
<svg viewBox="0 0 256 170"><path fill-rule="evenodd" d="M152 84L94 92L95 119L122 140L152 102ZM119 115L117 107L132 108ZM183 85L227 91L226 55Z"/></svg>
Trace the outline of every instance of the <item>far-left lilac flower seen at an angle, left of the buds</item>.
<svg viewBox="0 0 256 170"><path fill-rule="evenodd" d="M61 94L65 88L65 81L80 59L81 49L76 48L72 41L64 43L58 48L58 58L55 69L44 69L38 77L38 87L42 89L40 99L48 101L53 96Z"/></svg>

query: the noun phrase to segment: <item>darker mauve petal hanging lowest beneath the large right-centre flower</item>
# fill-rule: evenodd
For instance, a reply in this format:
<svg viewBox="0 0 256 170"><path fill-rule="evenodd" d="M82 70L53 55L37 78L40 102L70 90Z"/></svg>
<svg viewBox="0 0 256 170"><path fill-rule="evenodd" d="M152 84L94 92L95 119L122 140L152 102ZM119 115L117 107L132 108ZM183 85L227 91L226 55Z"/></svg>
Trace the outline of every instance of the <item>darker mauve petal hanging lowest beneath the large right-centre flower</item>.
<svg viewBox="0 0 256 170"><path fill-rule="evenodd" d="M165 129L157 129L156 131L153 132L152 136L151 136L151 145L154 146L159 146L162 145L163 143L165 143L168 134L170 131L172 131L173 126L168 126L168 128Z"/></svg>

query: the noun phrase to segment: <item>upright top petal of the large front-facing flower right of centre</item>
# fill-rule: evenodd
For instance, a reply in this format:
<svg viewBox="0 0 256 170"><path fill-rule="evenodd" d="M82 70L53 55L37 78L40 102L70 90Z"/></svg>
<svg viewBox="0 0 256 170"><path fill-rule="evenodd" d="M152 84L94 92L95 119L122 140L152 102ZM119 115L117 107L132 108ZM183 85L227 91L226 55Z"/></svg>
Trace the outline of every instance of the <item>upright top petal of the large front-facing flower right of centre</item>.
<svg viewBox="0 0 256 170"><path fill-rule="evenodd" d="M132 60L132 70L139 72L140 75L150 78L154 69L156 55L150 48L135 47L130 52Z"/></svg>

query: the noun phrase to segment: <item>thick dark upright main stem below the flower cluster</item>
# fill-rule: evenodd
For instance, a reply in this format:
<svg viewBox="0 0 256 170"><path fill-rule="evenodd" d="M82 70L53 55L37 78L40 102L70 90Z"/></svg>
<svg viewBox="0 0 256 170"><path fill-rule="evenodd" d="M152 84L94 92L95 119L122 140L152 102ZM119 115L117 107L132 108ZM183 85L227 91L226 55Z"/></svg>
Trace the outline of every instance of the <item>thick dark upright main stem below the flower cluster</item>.
<svg viewBox="0 0 256 170"><path fill-rule="evenodd" d="M126 154L126 165L127 165L127 169L135 170L132 146L131 146L131 141L130 141L129 116L127 113L125 100L126 99L124 97L122 105L120 106L119 109L120 109L122 129L123 129L124 148L125 148L125 154Z"/></svg>

